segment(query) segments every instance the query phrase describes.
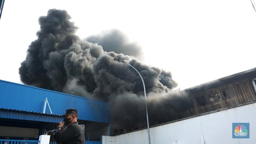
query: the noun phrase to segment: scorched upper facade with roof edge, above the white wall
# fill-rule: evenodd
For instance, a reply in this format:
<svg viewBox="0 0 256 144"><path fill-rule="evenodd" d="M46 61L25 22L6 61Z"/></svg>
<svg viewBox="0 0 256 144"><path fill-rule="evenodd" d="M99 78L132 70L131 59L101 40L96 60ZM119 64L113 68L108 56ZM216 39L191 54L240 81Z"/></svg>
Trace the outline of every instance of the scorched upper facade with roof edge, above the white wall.
<svg viewBox="0 0 256 144"><path fill-rule="evenodd" d="M184 90L193 100L185 116L232 108L256 100L256 69L250 69Z"/></svg>

